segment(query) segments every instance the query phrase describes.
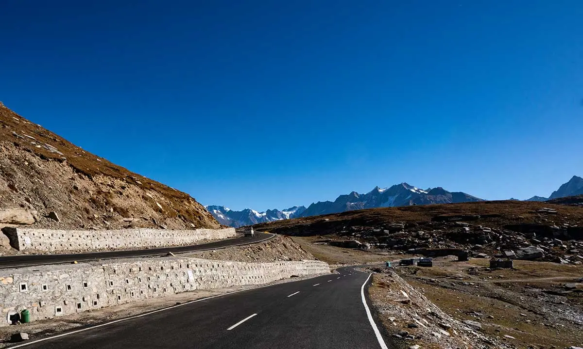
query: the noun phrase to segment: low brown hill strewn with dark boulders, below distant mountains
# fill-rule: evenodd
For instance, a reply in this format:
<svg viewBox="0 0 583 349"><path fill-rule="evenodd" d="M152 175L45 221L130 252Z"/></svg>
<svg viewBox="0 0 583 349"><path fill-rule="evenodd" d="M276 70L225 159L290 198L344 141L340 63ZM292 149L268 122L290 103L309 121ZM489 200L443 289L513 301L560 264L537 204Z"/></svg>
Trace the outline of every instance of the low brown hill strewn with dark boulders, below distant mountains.
<svg viewBox="0 0 583 349"><path fill-rule="evenodd" d="M373 251L583 262L583 209L546 202L370 209L282 220L256 229L319 236L319 243Z"/></svg>

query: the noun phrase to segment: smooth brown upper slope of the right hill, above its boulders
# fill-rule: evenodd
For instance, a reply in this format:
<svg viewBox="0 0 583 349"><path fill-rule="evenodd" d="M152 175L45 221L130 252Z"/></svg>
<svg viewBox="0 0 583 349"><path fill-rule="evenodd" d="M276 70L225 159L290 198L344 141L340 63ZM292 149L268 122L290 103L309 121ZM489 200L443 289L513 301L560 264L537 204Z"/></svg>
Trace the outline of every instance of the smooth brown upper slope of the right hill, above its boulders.
<svg viewBox="0 0 583 349"><path fill-rule="evenodd" d="M543 208L556 214L539 212ZM583 226L583 208L538 201L480 201L461 204L416 205L363 209L255 225L255 229L287 235L322 235L336 233L345 227L383 227L389 223L423 225L437 216L465 215L480 218L476 224L500 229L517 223ZM468 220L472 220L469 218ZM439 219L437 219L439 220ZM466 219L459 219L465 221Z"/></svg>

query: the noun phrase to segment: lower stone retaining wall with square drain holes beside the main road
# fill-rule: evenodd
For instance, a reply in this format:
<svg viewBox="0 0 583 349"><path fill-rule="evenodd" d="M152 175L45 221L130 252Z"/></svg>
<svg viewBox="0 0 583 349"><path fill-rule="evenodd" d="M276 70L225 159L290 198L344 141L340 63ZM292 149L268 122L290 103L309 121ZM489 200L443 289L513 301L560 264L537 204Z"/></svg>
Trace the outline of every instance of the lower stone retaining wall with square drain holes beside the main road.
<svg viewBox="0 0 583 349"><path fill-rule="evenodd" d="M29 309L31 321L200 289L266 284L329 273L321 261L247 263L198 258L122 259L113 263L0 270L0 326Z"/></svg>

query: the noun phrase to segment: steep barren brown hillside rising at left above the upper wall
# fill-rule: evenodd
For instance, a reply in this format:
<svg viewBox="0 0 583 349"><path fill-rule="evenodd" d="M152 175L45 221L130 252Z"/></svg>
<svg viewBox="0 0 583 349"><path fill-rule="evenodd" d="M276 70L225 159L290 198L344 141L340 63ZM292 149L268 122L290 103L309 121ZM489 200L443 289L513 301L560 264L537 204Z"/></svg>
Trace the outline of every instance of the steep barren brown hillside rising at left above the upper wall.
<svg viewBox="0 0 583 349"><path fill-rule="evenodd" d="M0 225L219 227L190 195L90 154L1 102L0 153Z"/></svg>

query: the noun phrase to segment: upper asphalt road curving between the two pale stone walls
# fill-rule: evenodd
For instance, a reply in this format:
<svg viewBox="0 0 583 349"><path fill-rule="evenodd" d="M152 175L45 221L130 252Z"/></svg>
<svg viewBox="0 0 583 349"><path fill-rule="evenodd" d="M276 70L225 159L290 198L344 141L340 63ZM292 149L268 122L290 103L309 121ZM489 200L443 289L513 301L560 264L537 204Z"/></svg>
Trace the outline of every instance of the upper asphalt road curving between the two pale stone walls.
<svg viewBox="0 0 583 349"><path fill-rule="evenodd" d="M128 258L128 257L147 257L166 255L168 252L174 254L193 252L193 251L208 251L218 250L219 248L247 245L258 243L260 241L268 240L274 235L269 233L255 232L255 236L236 237L226 240L216 241L214 243L179 246L179 247L163 247L151 248L147 250L124 250L124 251L104 251L104 252L87 252L79 254L42 254L42 255L15 255L0 257L0 269L2 268L17 268L22 266L34 266L55 263L71 263L73 261L96 261L98 259L112 259L112 258Z"/></svg>

